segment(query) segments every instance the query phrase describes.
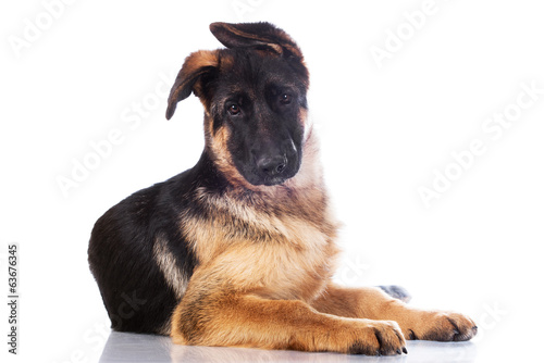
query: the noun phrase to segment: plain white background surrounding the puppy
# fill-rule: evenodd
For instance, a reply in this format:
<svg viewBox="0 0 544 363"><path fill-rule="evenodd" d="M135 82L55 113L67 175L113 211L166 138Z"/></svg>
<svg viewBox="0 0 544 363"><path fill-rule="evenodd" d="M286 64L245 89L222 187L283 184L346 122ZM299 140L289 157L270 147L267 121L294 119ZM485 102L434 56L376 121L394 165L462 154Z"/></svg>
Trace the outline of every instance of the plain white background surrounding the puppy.
<svg viewBox="0 0 544 363"><path fill-rule="evenodd" d="M544 9L436 0L415 28L404 14L424 3L3 2L0 285L5 297L7 246L18 242L21 320L20 355L2 338L2 356L100 356L109 330L87 266L89 233L108 208L198 160L201 105L191 97L165 121L164 92L189 52L220 47L208 30L215 21L272 22L305 52L326 180L345 222L338 281L399 284L416 305L470 314L482 360L541 354L544 95L496 139L482 125L516 110L521 84L542 92ZM26 43L16 49L14 39ZM387 46L379 66L371 49ZM118 145L63 193L59 177L73 178L112 130ZM485 152L426 208L418 189L432 188L435 170L454 171L452 153L474 139Z"/></svg>

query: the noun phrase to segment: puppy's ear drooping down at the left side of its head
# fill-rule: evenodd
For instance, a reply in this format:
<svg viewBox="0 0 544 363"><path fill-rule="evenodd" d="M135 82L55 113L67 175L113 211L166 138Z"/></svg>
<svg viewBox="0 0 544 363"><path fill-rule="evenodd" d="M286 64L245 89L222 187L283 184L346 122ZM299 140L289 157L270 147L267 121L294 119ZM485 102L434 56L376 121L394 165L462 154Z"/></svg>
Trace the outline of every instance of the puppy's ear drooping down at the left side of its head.
<svg viewBox="0 0 544 363"><path fill-rule="evenodd" d="M169 107L166 118L170 120L175 112L177 102L186 99L191 92L198 97L203 97L201 78L218 68L219 51L199 50L189 54L185 59L182 70L175 78L169 96Z"/></svg>

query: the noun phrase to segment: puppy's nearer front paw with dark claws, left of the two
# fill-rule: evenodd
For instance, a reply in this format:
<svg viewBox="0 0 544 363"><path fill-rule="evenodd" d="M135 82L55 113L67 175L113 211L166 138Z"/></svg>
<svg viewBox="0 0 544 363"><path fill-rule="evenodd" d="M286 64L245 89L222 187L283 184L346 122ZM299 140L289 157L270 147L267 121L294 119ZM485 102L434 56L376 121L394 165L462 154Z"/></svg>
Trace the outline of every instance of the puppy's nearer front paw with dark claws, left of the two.
<svg viewBox="0 0 544 363"><path fill-rule="evenodd" d="M407 353L406 341L396 322L366 321L355 331L355 339L347 353L366 355L392 355Z"/></svg>

